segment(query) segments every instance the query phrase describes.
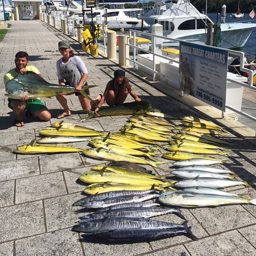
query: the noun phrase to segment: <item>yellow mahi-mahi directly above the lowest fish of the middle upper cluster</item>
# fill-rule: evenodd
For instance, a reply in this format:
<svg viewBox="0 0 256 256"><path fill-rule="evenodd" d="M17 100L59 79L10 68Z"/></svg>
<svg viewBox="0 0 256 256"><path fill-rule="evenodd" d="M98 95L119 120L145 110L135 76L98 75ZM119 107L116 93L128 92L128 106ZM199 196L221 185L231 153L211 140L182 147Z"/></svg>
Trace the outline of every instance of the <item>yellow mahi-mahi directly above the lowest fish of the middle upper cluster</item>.
<svg viewBox="0 0 256 256"><path fill-rule="evenodd" d="M127 154L127 155L132 155L132 156L147 156L150 159L153 159L154 161L157 161L157 159L155 159L153 157L153 155L160 155L162 153L147 153L144 151L139 151L136 149L132 149L132 148L124 148L124 147L120 147L118 145L114 145L111 143L105 143L104 141L95 141L94 139L90 140L90 144L92 144L95 148L105 148L107 150L112 150L115 151L117 153L123 153L123 154Z"/></svg>

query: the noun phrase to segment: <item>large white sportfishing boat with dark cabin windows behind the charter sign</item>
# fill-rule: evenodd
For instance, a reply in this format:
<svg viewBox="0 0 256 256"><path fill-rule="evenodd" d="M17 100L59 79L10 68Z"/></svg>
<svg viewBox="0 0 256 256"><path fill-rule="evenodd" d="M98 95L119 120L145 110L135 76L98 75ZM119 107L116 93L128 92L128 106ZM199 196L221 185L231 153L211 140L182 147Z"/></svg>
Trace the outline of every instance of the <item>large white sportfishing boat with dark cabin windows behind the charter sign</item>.
<svg viewBox="0 0 256 256"><path fill-rule="evenodd" d="M207 23L213 23L201 14L189 0L166 0L155 3L155 7L142 17L152 24L163 26L163 36L199 44L205 44ZM221 23L221 48L241 48L245 45L255 23ZM164 42L167 46L172 43ZM170 44L170 45L169 45Z"/></svg>

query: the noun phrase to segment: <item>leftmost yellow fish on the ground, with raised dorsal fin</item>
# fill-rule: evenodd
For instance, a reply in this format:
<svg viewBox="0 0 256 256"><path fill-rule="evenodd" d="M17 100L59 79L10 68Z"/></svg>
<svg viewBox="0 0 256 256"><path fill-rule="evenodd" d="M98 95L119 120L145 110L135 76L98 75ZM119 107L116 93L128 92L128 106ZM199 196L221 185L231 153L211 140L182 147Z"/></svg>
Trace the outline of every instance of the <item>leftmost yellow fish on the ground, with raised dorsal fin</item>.
<svg viewBox="0 0 256 256"><path fill-rule="evenodd" d="M82 148L36 144L35 139L33 139L29 145L22 145L14 149L14 153L19 154L71 153L82 151Z"/></svg>

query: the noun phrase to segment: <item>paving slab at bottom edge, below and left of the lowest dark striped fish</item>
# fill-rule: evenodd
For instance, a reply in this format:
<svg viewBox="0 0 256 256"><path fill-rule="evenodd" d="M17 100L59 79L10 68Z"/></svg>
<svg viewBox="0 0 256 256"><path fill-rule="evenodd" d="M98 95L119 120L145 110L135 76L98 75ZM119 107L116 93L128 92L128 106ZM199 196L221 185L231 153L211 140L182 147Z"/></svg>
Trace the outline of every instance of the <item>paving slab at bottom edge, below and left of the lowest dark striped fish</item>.
<svg viewBox="0 0 256 256"><path fill-rule="evenodd" d="M79 242L77 242L77 238L76 233L65 229L20 239L15 242L15 255L82 256L82 248Z"/></svg>

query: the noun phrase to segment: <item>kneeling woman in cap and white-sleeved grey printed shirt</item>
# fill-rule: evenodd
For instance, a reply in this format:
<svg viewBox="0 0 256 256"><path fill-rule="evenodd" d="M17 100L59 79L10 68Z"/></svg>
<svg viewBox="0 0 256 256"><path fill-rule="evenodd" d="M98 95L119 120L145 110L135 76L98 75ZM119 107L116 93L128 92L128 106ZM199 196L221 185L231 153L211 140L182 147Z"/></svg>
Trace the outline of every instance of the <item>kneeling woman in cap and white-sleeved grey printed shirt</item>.
<svg viewBox="0 0 256 256"><path fill-rule="evenodd" d="M88 71L85 64L80 57L74 54L68 41L60 41L58 45L59 52L62 55L62 58L59 59L56 64L59 84L63 86L74 86L76 88L75 94L78 96L82 109L94 110L101 98L100 95L98 95L94 100L90 101L88 98L85 98L82 94L80 94L82 87L87 85L86 79L88 77ZM89 89L87 89L85 92L87 95L90 95ZM64 112L58 115L58 119L71 115L70 109L68 108L67 98L64 96L71 94L63 93L62 95L56 96L57 100L59 103L61 103L61 106L64 109Z"/></svg>

